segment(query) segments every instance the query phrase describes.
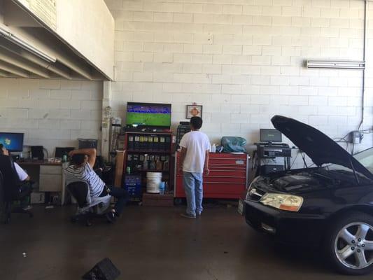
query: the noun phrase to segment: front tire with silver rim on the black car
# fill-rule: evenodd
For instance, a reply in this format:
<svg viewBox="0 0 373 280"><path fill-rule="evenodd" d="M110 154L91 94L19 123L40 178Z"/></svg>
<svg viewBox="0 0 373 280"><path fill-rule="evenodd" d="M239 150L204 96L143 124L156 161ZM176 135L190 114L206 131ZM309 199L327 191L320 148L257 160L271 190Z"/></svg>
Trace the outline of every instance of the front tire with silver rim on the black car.
<svg viewBox="0 0 373 280"><path fill-rule="evenodd" d="M373 249L367 249L373 244L372 229L373 216L359 211L343 214L332 221L325 236L324 248L326 257L338 272L349 275L372 272ZM359 236L363 237L365 230L367 230L365 238L359 238ZM370 241L372 243L368 243Z"/></svg>

